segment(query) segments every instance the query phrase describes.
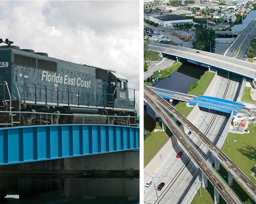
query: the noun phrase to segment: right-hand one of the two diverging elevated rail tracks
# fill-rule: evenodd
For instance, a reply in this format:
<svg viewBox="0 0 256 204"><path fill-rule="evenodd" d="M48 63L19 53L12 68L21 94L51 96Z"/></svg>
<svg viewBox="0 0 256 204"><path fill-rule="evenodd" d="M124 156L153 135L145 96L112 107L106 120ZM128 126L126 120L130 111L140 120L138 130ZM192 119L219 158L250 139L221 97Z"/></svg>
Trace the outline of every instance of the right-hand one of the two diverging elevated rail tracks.
<svg viewBox="0 0 256 204"><path fill-rule="evenodd" d="M147 90L144 86L144 92ZM161 97L157 96L151 91L151 95L155 95L155 98L170 111L176 118L179 119L186 128L188 128L194 135L212 152L214 157L217 159L231 172L231 174L244 186L244 188L256 199L256 186L251 182L251 180L239 169L235 164L218 149L200 130L198 130L186 117L180 114L175 108L173 108L169 103L165 102Z"/></svg>

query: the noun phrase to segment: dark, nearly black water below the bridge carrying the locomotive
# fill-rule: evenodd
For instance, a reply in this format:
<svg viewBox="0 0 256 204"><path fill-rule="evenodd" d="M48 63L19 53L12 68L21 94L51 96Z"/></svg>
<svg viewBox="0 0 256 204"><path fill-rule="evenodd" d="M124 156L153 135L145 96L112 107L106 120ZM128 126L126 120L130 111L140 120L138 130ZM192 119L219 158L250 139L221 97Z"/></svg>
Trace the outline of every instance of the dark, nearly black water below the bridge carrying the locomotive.
<svg viewBox="0 0 256 204"><path fill-rule="evenodd" d="M137 204L139 175L0 175L0 203Z"/></svg>

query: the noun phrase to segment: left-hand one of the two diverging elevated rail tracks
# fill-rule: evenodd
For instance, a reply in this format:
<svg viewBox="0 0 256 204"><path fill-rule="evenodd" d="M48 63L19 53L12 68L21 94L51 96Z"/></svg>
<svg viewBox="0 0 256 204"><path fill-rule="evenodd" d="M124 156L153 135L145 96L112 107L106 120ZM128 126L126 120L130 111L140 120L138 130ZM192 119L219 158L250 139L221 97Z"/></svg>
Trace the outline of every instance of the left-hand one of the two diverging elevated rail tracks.
<svg viewBox="0 0 256 204"><path fill-rule="evenodd" d="M144 86L144 98L153 107L156 112L161 116L165 124L172 130L172 133L176 135L179 139L181 145L189 152L189 155L197 163L201 171L204 172L206 177L212 183L212 185L218 190L220 195L228 204L241 203L236 195L231 192L227 184L224 183L217 172L215 172L207 163L207 161L202 157L196 147L187 139L184 133L181 131L180 127L170 118L170 116L164 111L164 109L159 105L160 103L166 103L161 97L158 97L155 93L150 91ZM173 109L173 108L172 108Z"/></svg>

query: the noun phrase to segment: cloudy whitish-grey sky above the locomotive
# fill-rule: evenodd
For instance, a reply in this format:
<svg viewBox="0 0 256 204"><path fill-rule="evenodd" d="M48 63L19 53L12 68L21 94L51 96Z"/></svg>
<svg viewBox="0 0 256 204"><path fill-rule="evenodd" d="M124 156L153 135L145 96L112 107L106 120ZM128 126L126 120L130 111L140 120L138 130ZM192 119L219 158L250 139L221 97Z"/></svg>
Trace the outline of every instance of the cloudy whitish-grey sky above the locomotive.
<svg viewBox="0 0 256 204"><path fill-rule="evenodd" d="M0 38L49 57L115 69L139 102L139 1L0 1Z"/></svg>

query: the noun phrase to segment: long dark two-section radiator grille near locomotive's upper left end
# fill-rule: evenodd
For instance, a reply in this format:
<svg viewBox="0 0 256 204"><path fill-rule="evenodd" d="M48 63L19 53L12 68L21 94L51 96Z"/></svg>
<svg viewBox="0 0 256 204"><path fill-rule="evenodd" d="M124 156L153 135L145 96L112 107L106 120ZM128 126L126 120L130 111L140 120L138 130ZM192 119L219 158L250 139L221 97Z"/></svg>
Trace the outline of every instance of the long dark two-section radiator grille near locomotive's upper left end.
<svg viewBox="0 0 256 204"><path fill-rule="evenodd" d="M57 62L36 59L24 55L14 54L13 64L36 69L43 69L45 71L57 72Z"/></svg>

